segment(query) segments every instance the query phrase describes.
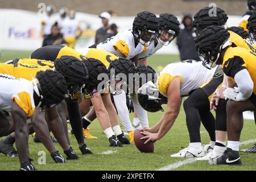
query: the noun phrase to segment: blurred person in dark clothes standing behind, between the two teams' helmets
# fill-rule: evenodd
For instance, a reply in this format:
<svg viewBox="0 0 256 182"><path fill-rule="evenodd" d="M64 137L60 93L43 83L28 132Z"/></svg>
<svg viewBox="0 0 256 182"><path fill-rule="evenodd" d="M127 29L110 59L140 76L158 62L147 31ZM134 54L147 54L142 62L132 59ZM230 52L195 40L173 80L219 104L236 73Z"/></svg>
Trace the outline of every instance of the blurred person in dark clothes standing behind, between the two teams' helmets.
<svg viewBox="0 0 256 182"><path fill-rule="evenodd" d="M199 55L196 51L195 32L192 31L192 15L184 14L180 33L177 36L177 46L180 52L180 59L199 60Z"/></svg>

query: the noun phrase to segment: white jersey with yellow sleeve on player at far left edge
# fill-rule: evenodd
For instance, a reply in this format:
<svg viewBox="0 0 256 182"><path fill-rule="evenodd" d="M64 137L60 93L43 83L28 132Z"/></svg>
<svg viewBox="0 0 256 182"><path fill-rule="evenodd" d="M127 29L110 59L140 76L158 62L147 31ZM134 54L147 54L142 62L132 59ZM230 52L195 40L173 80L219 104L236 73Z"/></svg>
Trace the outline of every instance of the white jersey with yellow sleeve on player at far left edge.
<svg viewBox="0 0 256 182"><path fill-rule="evenodd" d="M27 117L31 117L35 109L32 82L0 74L0 85L0 111L7 111L11 115L11 107L16 101Z"/></svg>

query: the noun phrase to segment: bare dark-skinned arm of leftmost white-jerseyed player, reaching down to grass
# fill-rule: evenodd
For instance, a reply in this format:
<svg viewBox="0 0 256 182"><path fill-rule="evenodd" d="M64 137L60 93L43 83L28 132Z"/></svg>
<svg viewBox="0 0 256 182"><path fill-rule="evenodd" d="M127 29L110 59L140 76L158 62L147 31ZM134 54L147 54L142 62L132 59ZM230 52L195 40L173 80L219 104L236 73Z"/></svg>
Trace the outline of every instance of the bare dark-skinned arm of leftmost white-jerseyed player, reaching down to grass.
<svg viewBox="0 0 256 182"><path fill-rule="evenodd" d="M15 123L15 142L20 164L28 163L28 127L26 113L13 102L11 115Z"/></svg>

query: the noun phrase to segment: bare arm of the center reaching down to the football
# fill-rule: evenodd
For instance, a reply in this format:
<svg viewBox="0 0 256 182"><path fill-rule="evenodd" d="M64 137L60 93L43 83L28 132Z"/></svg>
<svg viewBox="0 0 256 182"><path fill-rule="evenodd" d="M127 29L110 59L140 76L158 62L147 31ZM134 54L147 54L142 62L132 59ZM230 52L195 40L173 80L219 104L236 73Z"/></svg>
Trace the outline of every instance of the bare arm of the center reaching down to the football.
<svg viewBox="0 0 256 182"><path fill-rule="evenodd" d="M174 122L179 115L181 98L180 98L180 84L179 77L175 77L167 88L167 110L163 116L163 122L158 131L159 139L162 138L174 125Z"/></svg>

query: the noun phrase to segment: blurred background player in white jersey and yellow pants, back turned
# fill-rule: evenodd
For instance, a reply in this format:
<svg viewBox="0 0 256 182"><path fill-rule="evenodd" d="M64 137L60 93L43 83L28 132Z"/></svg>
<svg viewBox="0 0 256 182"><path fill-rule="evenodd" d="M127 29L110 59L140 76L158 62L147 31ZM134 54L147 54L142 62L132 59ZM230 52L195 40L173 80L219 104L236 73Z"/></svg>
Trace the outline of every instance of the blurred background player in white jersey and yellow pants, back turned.
<svg viewBox="0 0 256 182"><path fill-rule="evenodd" d="M63 32L64 39L68 46L74 48L77 38L82 34L82 30L79 26L79 20L76 19L75 10L69 11L69 17L64 20L61 32Z"/></svg>

